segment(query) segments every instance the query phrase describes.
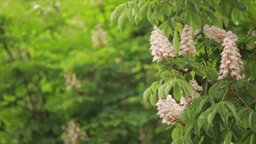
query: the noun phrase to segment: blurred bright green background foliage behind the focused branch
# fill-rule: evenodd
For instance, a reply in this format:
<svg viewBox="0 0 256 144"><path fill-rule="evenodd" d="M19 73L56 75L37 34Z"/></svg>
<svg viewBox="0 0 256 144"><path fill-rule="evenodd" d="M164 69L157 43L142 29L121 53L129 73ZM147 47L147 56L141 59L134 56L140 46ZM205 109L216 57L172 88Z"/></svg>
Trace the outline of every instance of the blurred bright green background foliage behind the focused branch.
<svg viewBox="0 0 256 144"><path fill-rule="evenodd" d="M143 18L120 33L109 22L120 3L125 0L0 0L0 144L61 144L70 120L85 131L82 144L170 140L142 99L158 77L152 26ZM96 24L108 44L93 48ZM67 90L65 71L81 86Z"/></svg>

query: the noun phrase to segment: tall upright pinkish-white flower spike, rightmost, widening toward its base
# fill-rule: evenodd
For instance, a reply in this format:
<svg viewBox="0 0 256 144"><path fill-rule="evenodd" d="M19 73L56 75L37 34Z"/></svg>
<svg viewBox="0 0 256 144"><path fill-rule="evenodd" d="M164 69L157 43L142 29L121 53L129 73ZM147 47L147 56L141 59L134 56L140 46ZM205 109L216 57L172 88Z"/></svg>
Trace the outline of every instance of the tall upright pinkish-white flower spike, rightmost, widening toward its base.
<svg viewBox="0 0 256 144"><path fill-rule="evenodd" d="M231 75L235 81L241 80L243 76L240 75L240 71L243 69L243 61L237 45L230 37L225 37L222 46L224 49L221 53L219 79L222 80Z"/></svg>

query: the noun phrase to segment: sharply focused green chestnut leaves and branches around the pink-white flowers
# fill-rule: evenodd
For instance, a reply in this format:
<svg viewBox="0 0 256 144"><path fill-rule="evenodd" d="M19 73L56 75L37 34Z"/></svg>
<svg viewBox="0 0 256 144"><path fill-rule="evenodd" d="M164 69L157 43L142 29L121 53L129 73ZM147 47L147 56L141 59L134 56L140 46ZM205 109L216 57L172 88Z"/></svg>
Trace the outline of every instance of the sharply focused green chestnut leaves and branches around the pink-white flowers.
<svg viewBox="0 0 256 144"><path fill-rule="evenodd" d="M185 24L198 33L194 38L197 53L158 62L160 79L143 95L155 106L157 99L166 99L168 94L176 101L186 93L194 98L189 84L193 77L203 85L202 97L169 127L172 144L256 143L255 8L255 0L132 0L118 5L112 13L110 21L114 24L117 20L120 31L126 17L140 26L139 21L147 16L169 37L177 53ZM243 80L218 79L224 44L205 35L203 27L207 24L238 35Z"/></svg>

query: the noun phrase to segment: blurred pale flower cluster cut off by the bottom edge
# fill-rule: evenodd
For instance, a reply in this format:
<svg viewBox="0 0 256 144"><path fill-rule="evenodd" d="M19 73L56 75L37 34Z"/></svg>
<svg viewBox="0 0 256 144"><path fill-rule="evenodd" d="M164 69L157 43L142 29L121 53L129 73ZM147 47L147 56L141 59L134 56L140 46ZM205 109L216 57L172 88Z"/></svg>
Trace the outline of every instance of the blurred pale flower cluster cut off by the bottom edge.
<svg viewBox="0 0 256 144"><path fill-rule="evenodd" d="M64 144L77 144L80 141L84 141L87 138L85 131L82 131L80 124L71 120L66 126L62 127L65 131L63 132Z"/></svg>

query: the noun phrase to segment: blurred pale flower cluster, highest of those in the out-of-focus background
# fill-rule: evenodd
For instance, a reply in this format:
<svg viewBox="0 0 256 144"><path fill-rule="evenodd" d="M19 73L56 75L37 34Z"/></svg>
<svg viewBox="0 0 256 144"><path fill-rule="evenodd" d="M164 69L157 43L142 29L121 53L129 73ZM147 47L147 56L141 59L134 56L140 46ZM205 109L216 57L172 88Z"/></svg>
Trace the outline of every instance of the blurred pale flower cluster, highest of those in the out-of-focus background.
<svg viewBox="0 0 256 144"><path fill-rule="evenodd" d="M95 47L101 47L104 45L107 45L107 33L102 29L101 24L97 24L94 27L93 34L92 34L92 40L93 40L93 48Z"/></svg>

